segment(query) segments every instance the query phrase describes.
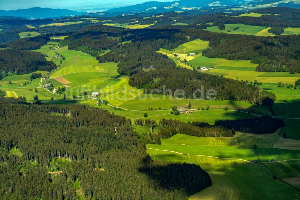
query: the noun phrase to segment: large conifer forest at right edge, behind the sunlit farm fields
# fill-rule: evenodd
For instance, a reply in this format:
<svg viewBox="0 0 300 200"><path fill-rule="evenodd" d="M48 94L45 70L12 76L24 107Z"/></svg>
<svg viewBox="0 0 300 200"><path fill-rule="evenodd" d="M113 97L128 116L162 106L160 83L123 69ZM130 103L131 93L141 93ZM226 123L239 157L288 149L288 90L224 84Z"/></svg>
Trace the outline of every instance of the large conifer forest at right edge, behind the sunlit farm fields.
<svg viewBox="0 0 300 200"><path fill-rule="evenodd" d="M248 36L220 43L203 53L206 57L252 60L259 64L256 71L294 74L300 72L299 47L300 35Z"/></svg>

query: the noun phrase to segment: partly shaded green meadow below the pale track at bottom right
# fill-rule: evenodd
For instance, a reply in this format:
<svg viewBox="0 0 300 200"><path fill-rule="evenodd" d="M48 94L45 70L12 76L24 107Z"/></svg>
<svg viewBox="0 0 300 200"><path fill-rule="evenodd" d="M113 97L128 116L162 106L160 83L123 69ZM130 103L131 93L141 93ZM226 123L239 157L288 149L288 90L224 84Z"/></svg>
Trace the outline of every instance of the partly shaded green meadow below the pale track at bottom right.
<svg viewBox="0 0 300 200"><path fill-rule="evenodd" d="M212 185L191 195L190 200L300 198L299 192L292 186L280 180L273 180L274 174L262 164L202 156L184 156L151 149L147 149L147 153L155 160L194 163L208 172Z"/></svg>

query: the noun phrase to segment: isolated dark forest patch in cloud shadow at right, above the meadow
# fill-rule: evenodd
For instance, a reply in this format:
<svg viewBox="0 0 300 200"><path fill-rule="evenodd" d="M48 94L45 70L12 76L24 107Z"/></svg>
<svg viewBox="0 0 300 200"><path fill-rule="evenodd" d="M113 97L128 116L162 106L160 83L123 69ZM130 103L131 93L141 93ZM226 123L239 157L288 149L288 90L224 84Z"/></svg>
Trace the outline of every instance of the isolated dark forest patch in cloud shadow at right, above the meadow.
<svg viewBox="0 0 300 200"><path fill-rule="evenodd" d="M284 121L271 117L256 117L243 120L216 120L215 126L225 126L228 129L234 128L235 131L253 134L274 133L277 129L284 126Z"/></svg>

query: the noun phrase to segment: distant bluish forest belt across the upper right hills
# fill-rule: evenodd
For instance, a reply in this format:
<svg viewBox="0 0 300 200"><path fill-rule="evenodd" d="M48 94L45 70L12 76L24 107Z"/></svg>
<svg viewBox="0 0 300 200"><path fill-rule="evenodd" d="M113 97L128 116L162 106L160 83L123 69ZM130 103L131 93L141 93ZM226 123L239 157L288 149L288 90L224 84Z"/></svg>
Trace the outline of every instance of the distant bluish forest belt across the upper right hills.
<svg viewBox="0 0 300 200"><path fill-rule="evenodd" d="M228 12L230 12L228 16ZM265 27L299 27L300 16L299 9L286 8L286 7L273 7L264 8L259 10L253 10L251 12L260 14L271 14L262 15L261 17L234 17L238 16L240 13L238 11L230 10L222 11L219 13L201 12L201 11L187 11L185 13L163 13L161 17L155 17L157 21L153 26L171 25L174 24L174 20L180 23L187 23L193 26L195 29L205 29L207 26L219 26L220 24L235 24L241 23L252 26L265 26ZM277 15L275 15L277 14ZM279 14L279 15L278 15ZM148 18L140 20L142 23L151 24L153 19ZM206 23L213 22L212 25ZM153 23L153 22L152 22ZM187 27L188 28L188 27Z"/></svg>

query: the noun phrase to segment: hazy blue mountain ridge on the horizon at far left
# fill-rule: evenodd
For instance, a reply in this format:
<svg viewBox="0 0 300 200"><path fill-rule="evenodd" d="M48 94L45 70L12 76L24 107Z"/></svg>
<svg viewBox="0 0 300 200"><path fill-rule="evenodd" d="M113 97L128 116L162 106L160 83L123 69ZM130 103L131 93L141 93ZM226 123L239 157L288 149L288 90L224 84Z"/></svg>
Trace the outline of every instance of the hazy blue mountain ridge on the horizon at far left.
<svg viewBox="0 0 300 200"><path fill-rule="evenodd" d="M76 12L67 9L52 9L52 8L27 8L19 9L15 11L0 10L0 16L13 16L13 17L25 17L27 19L45 19L55 18L61 16L77 16L86 14L85 12Z"/></svg>

